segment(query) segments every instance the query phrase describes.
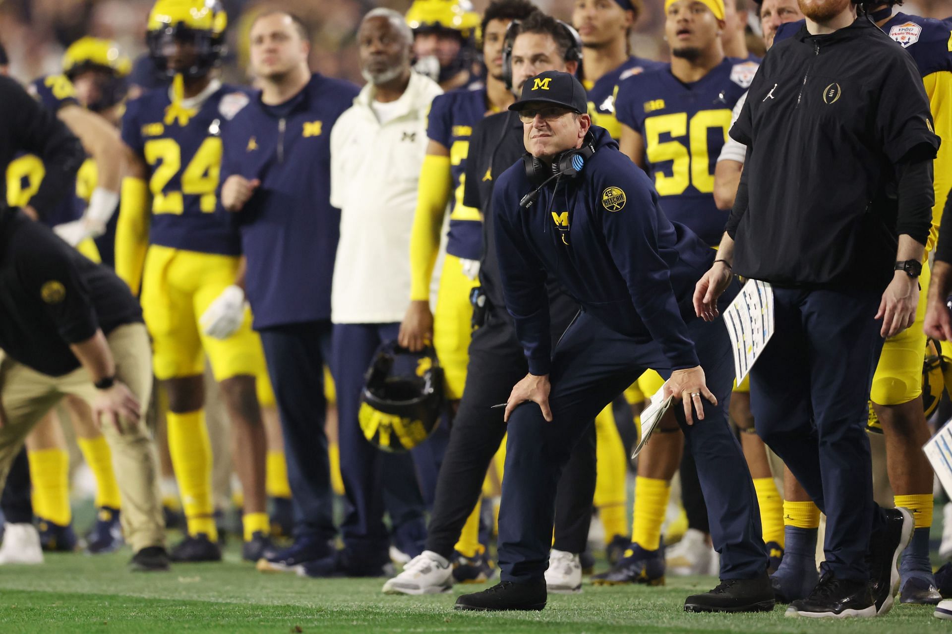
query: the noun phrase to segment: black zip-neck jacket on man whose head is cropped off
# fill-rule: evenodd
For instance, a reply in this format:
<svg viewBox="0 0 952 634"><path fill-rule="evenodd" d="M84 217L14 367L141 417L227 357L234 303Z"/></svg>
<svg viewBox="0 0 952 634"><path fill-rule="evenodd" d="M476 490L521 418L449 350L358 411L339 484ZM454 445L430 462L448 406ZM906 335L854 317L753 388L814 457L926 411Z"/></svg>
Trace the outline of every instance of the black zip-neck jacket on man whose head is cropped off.
<svg viewBox="0 0 952 634"><path fill-rule="evenodd" d="M804 26L775 45L730 130L747 146L727 222L734 272L778 285L884 287L897 235L924 244L928 234L932 203L903 208L896 190L910 162L919 175L931 164L932 130L912 57L867 18L827 35Z"/></svg>

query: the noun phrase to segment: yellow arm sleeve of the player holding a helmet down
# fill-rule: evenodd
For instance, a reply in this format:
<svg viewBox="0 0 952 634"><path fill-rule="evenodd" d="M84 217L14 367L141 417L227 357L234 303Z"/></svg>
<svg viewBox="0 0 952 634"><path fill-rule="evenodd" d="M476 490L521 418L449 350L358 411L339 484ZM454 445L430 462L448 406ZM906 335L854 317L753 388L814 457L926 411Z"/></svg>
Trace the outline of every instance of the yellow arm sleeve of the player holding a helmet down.
<svg viewBox="0 0 952 634"><path fill-rule="evenodd" d="M429 299L429 282L440 250L440 229L452 188L449 157L426 154L410 233L410 300Z"/></svg>

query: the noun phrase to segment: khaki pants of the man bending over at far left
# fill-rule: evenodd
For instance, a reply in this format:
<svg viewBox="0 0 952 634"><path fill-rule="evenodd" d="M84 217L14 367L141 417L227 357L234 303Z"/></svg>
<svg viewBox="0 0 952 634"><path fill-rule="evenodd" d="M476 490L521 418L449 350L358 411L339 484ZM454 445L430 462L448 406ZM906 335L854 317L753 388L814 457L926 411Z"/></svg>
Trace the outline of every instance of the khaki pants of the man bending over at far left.
<svg viewBox="0 0 952 634"><path fill-rule="evenodd" d="M115 359L116 380L126 384L135 394L145 414L152 388L152 360L146 327L142 324L117 327L109 333L107 341ZM0 427L0 488L6 483L13 458L23 446L30 429L67 394L78 396L92 405L96 388L85 368L54 377L10 358L0 364L0 399L6 413L6 425ZM145 416L135 426L122 421L122 427L122 434L111 424L103 425L102 429L112 449L112 466L119 481L126 540L136 552L148 546L164 546L165 523L159 495L158 461Z"/></svg>

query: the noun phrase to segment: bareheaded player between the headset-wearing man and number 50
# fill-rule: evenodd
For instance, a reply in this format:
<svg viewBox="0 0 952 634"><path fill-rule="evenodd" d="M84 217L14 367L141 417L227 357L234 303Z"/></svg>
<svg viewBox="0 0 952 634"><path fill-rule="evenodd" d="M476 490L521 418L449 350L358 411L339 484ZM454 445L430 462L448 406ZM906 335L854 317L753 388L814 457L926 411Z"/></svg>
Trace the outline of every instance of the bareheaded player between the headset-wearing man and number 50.
<svg viewBox="0 0 952 634"><path fill-rule="evenodd" d="M593 124L607 129L615 140L622 135L615 118L619 84L664 66L631 54L631 29L640 13L640 0L576 0L572 11L572 26L582 38L579 80L588 93L588 114Z"/></svg>

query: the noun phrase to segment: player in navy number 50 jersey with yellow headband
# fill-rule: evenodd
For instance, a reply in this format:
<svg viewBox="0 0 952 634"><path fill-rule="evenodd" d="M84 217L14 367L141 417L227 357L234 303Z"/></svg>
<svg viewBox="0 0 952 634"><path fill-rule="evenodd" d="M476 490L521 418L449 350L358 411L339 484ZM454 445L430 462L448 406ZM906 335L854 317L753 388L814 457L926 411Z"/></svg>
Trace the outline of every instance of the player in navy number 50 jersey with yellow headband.
<svg viewBox="0 0 952 634"><path fill-rule="evenodd" d="M619 145L653 181L664 214L713 247L727 220L714 204L714 162L727 138L730 110L750 85L757 64L724 55L724 0L666 0L664 8L671 63L622 82L615 102L622 124ZM638 383L650 397L664 381L649 371ZM665 433L655 436L639 461L632 543L617 565L592 578L595 583L664 583L661 525L684 438L673 422L663 423L660 431ZM691 572L697 573L706 572L710 546L704 505L695 502L687 505L688 511L698 512L688 514L695 530L685 535L684 545L695 546L704 561L672 564L696 566Z"/></svg>

